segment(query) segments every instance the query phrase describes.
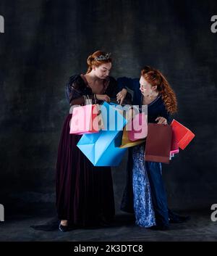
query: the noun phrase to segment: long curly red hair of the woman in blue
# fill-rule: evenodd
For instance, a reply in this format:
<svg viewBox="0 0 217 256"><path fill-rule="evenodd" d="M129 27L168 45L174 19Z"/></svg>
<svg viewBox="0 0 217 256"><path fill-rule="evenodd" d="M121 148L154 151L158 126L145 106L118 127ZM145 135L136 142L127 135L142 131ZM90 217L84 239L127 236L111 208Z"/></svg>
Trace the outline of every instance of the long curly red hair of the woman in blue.
<svg viewBox="0 0 217 256"><path fill-rule="evenodd" d="M166 110L171 114L177 112L176 94L163 74L153 67L145 66L141 70L141 75L151 86L157 86L156 91L161 94Z"/></svg>

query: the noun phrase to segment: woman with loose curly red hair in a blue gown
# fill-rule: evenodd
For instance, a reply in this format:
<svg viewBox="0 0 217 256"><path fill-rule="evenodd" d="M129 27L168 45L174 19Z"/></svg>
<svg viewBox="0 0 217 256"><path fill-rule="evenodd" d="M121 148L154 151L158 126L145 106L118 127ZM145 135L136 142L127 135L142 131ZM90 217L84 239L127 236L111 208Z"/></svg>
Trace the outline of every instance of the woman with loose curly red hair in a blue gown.
<svg viewBox="0 0 217 256"><path fill-rule="evenodd" d="M177 109L176 96L159 70L144 67L140 79L118 78L119 88L134 92L134 105L148 106L148 123L169 123ZM127 93L122 90L121 94ZM145 144L129 148L127 186L122 199L122 210L134 212L137 226L165 230L171 222L182 222L184 217L168 209L161 173L161 162L144 160Z"/></svg>

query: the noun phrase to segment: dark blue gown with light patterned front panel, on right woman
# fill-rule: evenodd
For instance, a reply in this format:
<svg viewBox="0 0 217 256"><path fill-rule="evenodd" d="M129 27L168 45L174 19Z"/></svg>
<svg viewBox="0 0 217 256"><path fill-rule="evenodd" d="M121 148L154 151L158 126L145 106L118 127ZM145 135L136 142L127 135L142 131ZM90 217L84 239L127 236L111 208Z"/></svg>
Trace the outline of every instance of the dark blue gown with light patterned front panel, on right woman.
<svg viewBox="0 0 217 256"><path fill-rule="evenodd" d="M129 88L134 92L132 104L141 107L140 80L124 77L117 81L119 90ZM161 96L148 104L148 123L156 123L157 117L165 117L170 123L171 117ZM168 226L169 217L174 218L174 213L168 210L161 162L145 162L144 146L129 148L127 183L121 210L135 213L136 224L143 227L153 226L155 222L158 226Z"/></svg>

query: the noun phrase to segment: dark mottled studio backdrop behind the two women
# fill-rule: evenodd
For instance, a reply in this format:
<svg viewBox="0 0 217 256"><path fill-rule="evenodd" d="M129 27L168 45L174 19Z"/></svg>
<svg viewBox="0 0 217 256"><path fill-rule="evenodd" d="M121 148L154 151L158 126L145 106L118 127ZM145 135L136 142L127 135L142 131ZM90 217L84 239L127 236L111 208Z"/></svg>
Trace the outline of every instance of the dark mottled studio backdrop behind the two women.
<svg viewBox="0 0 217 256"><path fill-rule="evenodd" d="M215 0L1 0L0 15L1 204L54 202L57 148L69 110L64 84L85 73L96 49L112 52L115 78L138 77L142 65L153 65L176 91L176 119L196 137L163 165L171 207L217 202ZM126 159L113 170L116 210Z"/></svg>

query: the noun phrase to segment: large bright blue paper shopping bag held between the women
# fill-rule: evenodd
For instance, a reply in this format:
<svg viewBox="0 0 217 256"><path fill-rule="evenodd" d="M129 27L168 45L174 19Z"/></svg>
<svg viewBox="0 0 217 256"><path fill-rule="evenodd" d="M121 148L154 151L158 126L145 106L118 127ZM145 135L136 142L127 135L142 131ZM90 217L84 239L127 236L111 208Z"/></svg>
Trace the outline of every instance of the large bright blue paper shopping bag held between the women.
<svg viewBox="0 0 217 256"><path fill-rule="evenodd" d="M99 133L84 134L77 146L94 166L118 166L127 149L120 149L122 129L127 121L116 107L101 106L104 128Z"/></svg>

